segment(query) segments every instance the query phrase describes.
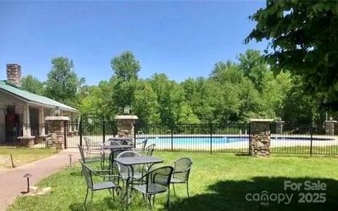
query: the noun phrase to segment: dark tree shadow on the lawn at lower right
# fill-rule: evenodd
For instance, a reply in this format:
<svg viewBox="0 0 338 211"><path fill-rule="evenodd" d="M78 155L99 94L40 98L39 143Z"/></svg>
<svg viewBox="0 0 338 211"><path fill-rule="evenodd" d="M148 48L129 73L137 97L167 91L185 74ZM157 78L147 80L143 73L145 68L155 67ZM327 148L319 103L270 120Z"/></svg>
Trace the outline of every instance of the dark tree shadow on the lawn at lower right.
<svg viewBox="0 0 338 211"><path fill-rule="evenodd" d="M303 184L300 191L284 191L284 181L289 180ZM304 182L317 182L327 185L325 191L304 191ZM193 185L193 184L192 184ZM287 193L291 196L291 202L277 203L277 201L247 201L247 193ZM299 193L325 193L325 203L299 203ZM309 194L310 195L310 194ZM311 194L311 196L313 196ZM311 198L311 196L308 196ZM184 197L184 198L183 198ZM190 201L186 196L173 200L170 210L338 210L338 181L334 179L308 178L308 177L253 177L251 180L221 181L208 186L205 193L197 193L191 196Z"/></svg>

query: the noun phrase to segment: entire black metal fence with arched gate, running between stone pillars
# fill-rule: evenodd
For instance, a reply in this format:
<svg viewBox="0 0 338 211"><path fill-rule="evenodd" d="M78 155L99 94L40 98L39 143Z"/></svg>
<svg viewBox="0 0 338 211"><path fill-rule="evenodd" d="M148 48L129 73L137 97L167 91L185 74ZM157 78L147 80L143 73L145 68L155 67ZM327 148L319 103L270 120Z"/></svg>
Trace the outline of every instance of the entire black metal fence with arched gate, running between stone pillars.
<svg viewBox="0 0 338 211"><path fill-rule="evenodd" d="M49 124L0 124L0 147L51 147ZM79 122L61 125L64 146L75 148L84 144L84 137L99 145L118 132L115 121L85 116ZM271 154L338 154L338 124L301 125L277 123L270 125ZM250 124L144 124L135 123L134 139L148 139L162 151L230 152L249 154Z"/></svg>

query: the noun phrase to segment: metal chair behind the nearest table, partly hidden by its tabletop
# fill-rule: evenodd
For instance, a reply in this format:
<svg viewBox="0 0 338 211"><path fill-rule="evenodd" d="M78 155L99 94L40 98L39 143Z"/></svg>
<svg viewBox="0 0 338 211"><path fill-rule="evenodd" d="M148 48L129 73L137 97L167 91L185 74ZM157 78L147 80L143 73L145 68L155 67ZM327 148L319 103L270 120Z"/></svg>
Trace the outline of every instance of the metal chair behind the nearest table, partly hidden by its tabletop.
<svg viewBox="0 0 338 211"><path fill-rule="evenodd" d="M136 151L123 151L116 158L127 158L127 157L137 157L141 156ZM144 172L144 165L136 165L133 166L134 169L134 175L132 175L132 169L130 166L125 166L120 163L117 163L118 165L118 172L120 173L120 176L127 180L129 177L136 177L140 178L143 175Z"/></svg>

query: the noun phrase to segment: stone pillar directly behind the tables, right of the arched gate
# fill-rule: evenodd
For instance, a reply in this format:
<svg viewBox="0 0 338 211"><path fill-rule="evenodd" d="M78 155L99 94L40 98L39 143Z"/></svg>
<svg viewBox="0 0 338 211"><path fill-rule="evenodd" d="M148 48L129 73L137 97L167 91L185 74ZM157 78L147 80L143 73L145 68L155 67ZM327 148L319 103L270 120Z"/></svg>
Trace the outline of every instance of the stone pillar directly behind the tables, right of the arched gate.
<svg viewBox="0 0 338 211"><path fill-rule="evenodd" d="M134 115L115 116L118 124L118 137L134 137L134 123L138 119Z"/></svg>

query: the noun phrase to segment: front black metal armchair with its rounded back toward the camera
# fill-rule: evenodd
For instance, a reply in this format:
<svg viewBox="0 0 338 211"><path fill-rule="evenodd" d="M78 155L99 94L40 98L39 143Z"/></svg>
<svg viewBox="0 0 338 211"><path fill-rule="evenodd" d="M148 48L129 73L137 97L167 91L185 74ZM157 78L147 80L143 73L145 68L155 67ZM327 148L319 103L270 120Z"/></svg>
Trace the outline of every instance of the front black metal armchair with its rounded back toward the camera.
<svg viewBox="0 0 338 211"><path fill-rule="evenodd" d="M173 174L172 166L162 166L147 172L141 178L130 177L127 179L127 185L131 184L132 191L139 191L143 196L148 199L150 207L154 206L155 196L158 193L164 193L168 191L167 205L169 205L170 196L170 179ZM135 181L142 181L143 184L134 186ZM153 203L151 204L151 197L153 197ZM145 199L145 197L144 197Z"/></svg>

